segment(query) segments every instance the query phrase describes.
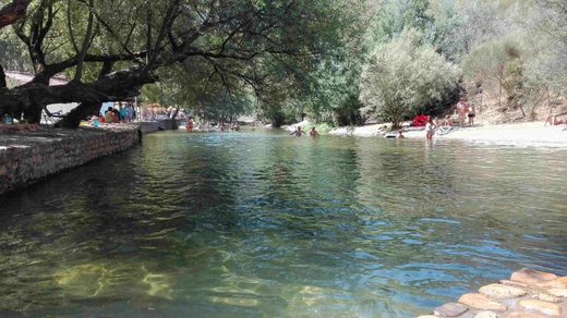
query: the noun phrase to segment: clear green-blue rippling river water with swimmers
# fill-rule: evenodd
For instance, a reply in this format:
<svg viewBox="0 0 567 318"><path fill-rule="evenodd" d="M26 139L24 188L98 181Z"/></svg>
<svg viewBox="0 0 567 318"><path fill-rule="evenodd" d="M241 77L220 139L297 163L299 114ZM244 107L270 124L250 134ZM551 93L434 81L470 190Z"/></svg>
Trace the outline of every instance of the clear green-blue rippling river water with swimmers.
<svg viewBox="0 0 567 318"><path fill-rule="evenodd" d="M425 314L522 267L567 274L566 161L457 142L148 135L0 198L0 315Z"/></svg>

